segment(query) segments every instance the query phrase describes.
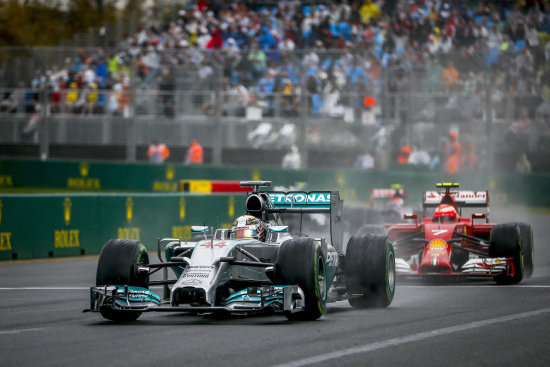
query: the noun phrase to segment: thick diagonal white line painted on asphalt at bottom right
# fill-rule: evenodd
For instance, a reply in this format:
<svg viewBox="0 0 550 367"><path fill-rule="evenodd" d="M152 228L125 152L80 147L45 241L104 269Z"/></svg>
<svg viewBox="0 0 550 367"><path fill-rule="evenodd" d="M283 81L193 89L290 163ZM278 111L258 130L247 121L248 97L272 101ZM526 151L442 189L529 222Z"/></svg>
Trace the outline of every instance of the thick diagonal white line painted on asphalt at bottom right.
<svg viewBox="0 0 550 367"><path fill-rule="evenodd" d="M335 351L335 352L321 354L321 355L318 355L318 356L315 356L315 357L297 359L295 361L290 361L290 362L280 364L280 365L276 365L276 366L273 366L273 367L308 366L308 365L311 365L311 364L322 363L322 362L326 362L326 361L329 361L329 360L332 360L332 359L342 358L342 357L346 357L346 356L350 356L350 355L354 355L354 354L372 352L374 350L379 350L379 349L383 349L383 348L387 348L387 347L397 346L397 345L401 345L401 344L405 344L405 343L417 342L417 341L421 341L421 340L425 340L425 339L429 339L429 338L433 338L433 337L437 337L437 336L457 333L457 332L460 332L460 331L477 329L477 328L485 327L485 326L488 326L488 325L499 324L499 323L503 323L503 322L508 322L508 321L513 321L513 320L519 320L519 319L524 319L524 318L528 318L528 317L538 316L538 315L542 315L542 314L549 313L549 312L550 312L550 308L543 308L543 309L540 309L540 310L535 310L535 311L530 311L530 312L523 312L523 313L518 313L518 314L515 314L515 315L495 317L493 319L475 321L475 322L470 322L470 323L467 323L467 324L450 326L450 327L446 327L446 328L443 328L443 329L436 329L436 330L431 330L431 331L425 331L425 332L422 332L422 333L411 334L411 335L402 336L402 337L398 337L398 338L388 339L388 340L384 340L384 341L381 341L381 342L365 344L365 345L360 346L360 347L342 349L342 350Z"/></svg>

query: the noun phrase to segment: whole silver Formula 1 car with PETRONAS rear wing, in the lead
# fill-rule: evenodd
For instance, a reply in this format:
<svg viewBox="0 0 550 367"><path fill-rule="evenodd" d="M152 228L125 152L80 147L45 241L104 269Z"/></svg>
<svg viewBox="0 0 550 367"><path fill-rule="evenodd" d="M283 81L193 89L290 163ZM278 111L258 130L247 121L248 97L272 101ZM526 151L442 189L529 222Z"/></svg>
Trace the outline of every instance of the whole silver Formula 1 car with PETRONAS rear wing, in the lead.
<svg viewBox="0 0 550 367"><path fill-rule="evenodd" d="M385 236L348 244L343 253L338 192L263 192L251 187L246 215L231 229L193 226L190 241L158 241L158 263L149 263L138 241L111 239L99 256L90 309L113 321L134 321L142 312L190 314L283 313L289 320L315 320L326 303L349 299L354 307L386 307L395 292L395 257ZM282 214L325 213L326 238L293 237ZM164 256L162 247L164 246ZM162 280L150 275L163 270ZM171 269L174 277L168 276ZM162 287L163 294L150 286Z"/></svg>

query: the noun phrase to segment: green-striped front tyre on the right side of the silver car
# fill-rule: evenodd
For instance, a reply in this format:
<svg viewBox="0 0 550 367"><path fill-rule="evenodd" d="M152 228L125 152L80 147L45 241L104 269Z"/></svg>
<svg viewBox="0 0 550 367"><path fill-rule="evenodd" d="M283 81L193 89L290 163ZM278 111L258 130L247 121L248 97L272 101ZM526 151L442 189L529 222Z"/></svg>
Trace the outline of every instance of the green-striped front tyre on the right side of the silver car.
<svg viewBox="0 0 550 367"><path fill-rule="evenodd" d="M285 312L289 320L317 320L326 309L326 261L321 245L313 238L295 238L282 243L277 254L275 283L298 285L305 296L305 308Z"/></svg>

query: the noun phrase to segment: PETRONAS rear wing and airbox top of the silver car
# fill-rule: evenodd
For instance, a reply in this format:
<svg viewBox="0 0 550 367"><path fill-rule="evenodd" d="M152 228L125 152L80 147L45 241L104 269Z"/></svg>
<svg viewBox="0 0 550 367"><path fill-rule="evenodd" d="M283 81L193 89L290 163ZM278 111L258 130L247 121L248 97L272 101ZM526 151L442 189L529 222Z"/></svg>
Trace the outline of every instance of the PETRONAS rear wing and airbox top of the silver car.
<svg viewBox="0 0 550 367"><path fill-rule="evenodd" d="M338 191L270 191L261 192L261 187L271 186L270 181L244 181L241 186L252 187L246 199L246 211L265 218L281 213L329 214L331 244L337 251L344 250L343 206Z"/></svg>

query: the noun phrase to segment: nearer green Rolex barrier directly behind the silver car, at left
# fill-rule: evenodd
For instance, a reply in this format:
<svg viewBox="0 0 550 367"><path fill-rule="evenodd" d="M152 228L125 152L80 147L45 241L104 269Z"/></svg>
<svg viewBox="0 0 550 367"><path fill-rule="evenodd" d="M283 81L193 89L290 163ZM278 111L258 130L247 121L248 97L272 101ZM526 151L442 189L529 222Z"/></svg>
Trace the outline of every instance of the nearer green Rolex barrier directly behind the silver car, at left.
<svg viewBox="0 0 550 367"><path fill-rule="evenodd" d="M0 195L0 260L98 254L110 238L156 249L158 237L191 237L191 225L229 227L245 194Z"/></svg>

